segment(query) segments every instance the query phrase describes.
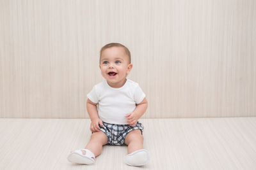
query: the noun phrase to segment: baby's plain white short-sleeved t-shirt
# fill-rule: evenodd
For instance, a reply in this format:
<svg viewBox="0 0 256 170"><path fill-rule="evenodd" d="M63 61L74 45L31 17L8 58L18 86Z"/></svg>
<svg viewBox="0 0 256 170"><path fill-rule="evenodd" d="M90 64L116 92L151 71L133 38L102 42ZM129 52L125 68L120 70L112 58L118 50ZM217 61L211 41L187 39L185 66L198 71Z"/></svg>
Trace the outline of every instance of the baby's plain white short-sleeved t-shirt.
<svg viewBox="0 0 256 170"><path fill-rule="evenodd" d="M98 103L99 118L103 122L127 124L124 116L134 111L136 104L145 98L145 94L138 83L132 80L127 79L120 88L113 88L104 80L95 85L87 97L93 103Z"/></svg>

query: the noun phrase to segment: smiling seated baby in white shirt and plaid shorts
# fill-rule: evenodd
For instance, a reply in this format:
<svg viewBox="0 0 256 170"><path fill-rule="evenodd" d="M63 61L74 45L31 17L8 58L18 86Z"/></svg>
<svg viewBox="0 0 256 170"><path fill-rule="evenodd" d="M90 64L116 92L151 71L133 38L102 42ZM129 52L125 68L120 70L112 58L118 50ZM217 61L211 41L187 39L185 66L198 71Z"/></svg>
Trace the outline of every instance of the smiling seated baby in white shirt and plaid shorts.
<svg viewBox="0 0 256 170"><path fill-rule="evenodd" d="M120 43L100 50L100 70L104 81L87 95L86 107L92 135L85 149L74 150L67 159L93 164L104 145L128 145L125 162L129 166L147 164L150 155L143 149L143 125L139 118L147 110L147 99L138 83L127 79L132 69L131 54Z"/></svg>

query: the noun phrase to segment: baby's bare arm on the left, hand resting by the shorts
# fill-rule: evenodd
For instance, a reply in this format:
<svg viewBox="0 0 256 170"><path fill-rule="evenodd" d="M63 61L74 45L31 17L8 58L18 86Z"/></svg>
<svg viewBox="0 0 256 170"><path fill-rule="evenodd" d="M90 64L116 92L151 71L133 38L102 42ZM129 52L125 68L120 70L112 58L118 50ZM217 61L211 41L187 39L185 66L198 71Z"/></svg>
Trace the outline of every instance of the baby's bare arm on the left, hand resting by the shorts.
<svg viewBox="0 0 256 170"><path fill-rule="evenodd" d="M100 131L99 124L101 126L103 126L103 124L102 124L102 120L100 120L99 115L98 115L97 103L93 103L92 101L90 101L90 99L87 99L86 108L87 108L87 112L90 116L90 119L92 121L92 123L90 125L90 130L92 132L99 132Z"/></svg>

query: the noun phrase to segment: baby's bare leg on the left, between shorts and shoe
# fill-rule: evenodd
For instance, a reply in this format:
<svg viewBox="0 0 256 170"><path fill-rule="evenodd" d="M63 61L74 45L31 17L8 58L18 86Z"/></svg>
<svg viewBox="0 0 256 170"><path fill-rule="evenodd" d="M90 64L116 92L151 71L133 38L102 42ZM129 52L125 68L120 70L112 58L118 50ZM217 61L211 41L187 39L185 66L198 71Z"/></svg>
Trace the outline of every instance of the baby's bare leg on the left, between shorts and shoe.
<svg viewBox="0 0 256 170"><path fill-rule="evenodd" d="M102 146L108 143L108 138L104 132L93 132L89 143L86 145L86 149L94 153L95 157L100 155Z"/></svg>

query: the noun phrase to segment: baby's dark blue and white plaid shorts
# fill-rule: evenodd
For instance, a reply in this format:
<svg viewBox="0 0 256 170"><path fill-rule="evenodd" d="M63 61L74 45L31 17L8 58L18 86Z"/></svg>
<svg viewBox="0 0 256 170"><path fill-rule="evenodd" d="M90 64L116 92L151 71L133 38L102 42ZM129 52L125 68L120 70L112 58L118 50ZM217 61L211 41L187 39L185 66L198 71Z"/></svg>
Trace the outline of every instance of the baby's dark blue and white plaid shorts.
<svg viewBox="0 0 256 170"><path fill-rule="evenodd" d="M125 145L125 136L136 129L140 129L141 134L143 132L143 125L139 122L135 126L131 125L116 125L103 122L103 126L100 126L100 131L104 132L108 137L109 145Z"/></svg>

